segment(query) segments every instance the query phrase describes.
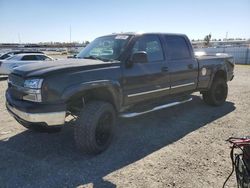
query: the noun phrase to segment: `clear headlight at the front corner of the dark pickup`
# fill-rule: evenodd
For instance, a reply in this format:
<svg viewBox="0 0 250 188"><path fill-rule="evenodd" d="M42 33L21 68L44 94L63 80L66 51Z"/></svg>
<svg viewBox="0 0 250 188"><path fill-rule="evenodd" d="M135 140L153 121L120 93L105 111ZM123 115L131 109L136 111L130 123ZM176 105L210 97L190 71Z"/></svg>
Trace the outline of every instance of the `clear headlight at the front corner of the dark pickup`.
<svg viewBox="0 0 250 188"><path fill-rule="evenodd" d="M24 81L23 100L42 102L41 87L43 79L29 79Z"/></svg>

